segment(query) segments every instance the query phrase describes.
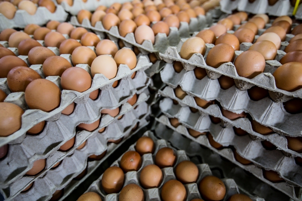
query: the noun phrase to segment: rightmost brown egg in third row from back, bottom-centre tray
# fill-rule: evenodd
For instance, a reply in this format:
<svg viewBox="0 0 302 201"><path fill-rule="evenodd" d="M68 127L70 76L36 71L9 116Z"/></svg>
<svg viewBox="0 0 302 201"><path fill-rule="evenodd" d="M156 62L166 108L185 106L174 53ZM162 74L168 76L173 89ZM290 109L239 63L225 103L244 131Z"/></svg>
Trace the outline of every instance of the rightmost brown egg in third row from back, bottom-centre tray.
<svg viewBox="0 0 302 201"><path fill-rule="evenodd" d="M175 168L175 176L183 184L194 183L198 177L198 168L191 161L182 161Z"/></svg>

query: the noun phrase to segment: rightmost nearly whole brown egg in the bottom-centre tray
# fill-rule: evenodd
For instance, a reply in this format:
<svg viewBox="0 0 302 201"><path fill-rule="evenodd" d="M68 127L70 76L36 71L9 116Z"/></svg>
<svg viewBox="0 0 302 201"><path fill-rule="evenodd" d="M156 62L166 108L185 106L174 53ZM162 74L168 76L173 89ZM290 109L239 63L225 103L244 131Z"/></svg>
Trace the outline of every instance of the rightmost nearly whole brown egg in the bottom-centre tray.
<svg viewBox="0 0 302 201"><path fill-rule="evenodd" d="M206 200L222 200L226 187L218 177L206 176L199 183L199 192Z"/></svg>

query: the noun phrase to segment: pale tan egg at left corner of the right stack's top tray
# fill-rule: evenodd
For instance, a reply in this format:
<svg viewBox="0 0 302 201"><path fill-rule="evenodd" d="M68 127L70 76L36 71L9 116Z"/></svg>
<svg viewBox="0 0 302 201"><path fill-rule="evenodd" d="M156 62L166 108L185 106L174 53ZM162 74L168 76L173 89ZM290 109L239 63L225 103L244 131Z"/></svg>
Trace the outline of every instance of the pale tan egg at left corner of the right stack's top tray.
<svg viewBox="0 0 302 201"><path fill-rule="evenodd" d="M191 37L182 45L179 55L183 59L190 59L194 53L205 53L205 43L200 37Z"/></svg>

